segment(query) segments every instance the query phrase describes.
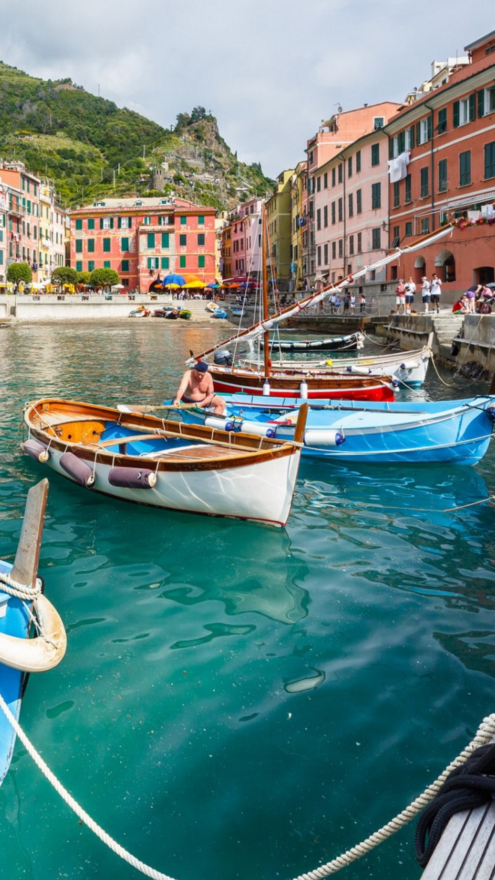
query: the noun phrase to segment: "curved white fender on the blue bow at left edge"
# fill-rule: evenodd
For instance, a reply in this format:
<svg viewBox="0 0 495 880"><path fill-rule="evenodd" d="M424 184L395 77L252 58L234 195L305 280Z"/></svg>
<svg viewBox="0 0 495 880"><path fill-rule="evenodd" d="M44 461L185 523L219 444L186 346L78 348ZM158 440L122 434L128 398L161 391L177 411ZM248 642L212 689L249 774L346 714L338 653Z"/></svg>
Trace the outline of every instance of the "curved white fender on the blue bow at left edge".
<svg viewBox="0 0 495 880"><path fill-rule="evenodd" d="M46 672L60 663L67 649L67 635L62 619L45 596L33 599L33 611L40 634L33 639L19 639L0 633L0 663L22 672Z"/></svg>

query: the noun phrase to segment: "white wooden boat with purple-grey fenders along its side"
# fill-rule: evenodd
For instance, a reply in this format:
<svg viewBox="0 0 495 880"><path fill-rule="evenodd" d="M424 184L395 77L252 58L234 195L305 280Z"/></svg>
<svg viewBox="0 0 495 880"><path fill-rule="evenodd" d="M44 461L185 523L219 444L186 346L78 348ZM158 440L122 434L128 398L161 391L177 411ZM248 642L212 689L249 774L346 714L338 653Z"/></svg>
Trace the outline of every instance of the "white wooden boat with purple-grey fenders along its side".
<svg viewBox="0 0 495 880"><path fill-rule="evenodd" d="M289 443L89 403L26 404L23 450L72 482L123 501L282 526L307 407Z"/></svg>

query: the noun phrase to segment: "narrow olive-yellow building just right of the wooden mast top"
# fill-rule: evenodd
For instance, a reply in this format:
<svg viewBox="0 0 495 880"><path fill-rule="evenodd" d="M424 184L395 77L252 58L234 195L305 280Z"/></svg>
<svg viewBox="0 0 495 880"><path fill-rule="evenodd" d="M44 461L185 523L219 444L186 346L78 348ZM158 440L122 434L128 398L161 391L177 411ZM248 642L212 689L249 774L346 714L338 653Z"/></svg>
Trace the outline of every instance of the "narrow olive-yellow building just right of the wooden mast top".
<svg viewBox="0 0 495 880"><path fill-rule="evenodd" d="M268 265L278 290L289 290L292 272L291 180L294 169L281 172L277 187L266 202L268 222Z"/></svg>

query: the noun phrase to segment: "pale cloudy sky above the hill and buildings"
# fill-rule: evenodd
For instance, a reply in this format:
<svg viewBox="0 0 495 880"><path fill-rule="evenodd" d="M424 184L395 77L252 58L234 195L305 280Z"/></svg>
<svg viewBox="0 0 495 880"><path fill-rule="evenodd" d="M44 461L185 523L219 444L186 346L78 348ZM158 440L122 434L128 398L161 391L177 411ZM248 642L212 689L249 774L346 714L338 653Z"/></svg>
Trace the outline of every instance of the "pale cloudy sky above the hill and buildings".
<svg viewBox="0 0 495 880"><path fill-rule="evenodd" d="M402 101L495 29L492 0L0 0L0 59L165 127L204 106L271 177L336 106Z"/></svg>

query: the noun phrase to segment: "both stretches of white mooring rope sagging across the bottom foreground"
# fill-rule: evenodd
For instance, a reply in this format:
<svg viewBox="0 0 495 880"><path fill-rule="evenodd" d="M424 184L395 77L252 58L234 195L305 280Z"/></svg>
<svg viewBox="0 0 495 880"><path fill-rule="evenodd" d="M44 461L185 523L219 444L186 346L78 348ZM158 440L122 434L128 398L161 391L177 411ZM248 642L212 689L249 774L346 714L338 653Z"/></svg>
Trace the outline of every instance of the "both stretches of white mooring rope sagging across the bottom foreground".
<svg viewBox="0 0 495 880"><path fill-rule="evenodd" d="M1 693L0 708L4 712L7 720L11 723L11 726L15 730L21 743L25 746L26 752L31 755L34 763L41 770L41 773L45 776L48 782L50 782L53 788L55 788L55 791L62 797L63 801L67 803L70 810L73 810L73 812L76 813L85 825L87 825L90 831L100 838L102 843L105 843L112 852L120 856L120 858L131 865L132 868L137 869L145 876L151 877L151 880L174 880L173 877L163 874L161 871L151 868L150 865L141 862L136 856L129 853L127 849L121 847L116 840L110 837L110 835L107 834L107 832L104 831L104 829L101 828L101 826L98 825L85 810L83 810L78 802L67 791L67 788L63 787L62 782L60 782L55 774L52 773L48 764L46 764L41 758L40 753L36 751L30 739L26 736L26 733L22 730L12 715L11 710L5 703ZM299 874L294 880L321 880L322 877L336 874L337 871L346 868L351 862L357 862L358 859L371 852L374 847L378 847L378 845L383 843L384 840L388 840L392 834L400 831L404 825L407 825L412 818L417 816L417 814L423 810L427 803L432 801L433 797L438 793L444 782L447 780L447 777L456 767L462 766L473 752L475 752L480 746L490 743L493 737L495 737L495 713L491 713L491 715L487 715L483 719L478 727L476 737L474 737L466 748L463 749L461 754L459 754L457 758L446 767L443 773L440 774L440 776L432 782L428 788L425 788L423 794L415 798L415 800L412 801L412 803L410 803L402 812L398 813L395 818L390 819L387 825L382 825L378 831L371 834L366 840L362 840L355 847L351 847L351 849L346 850L341 855L337 855L331 862L327 862L325 865L321 865L319 868L310 870L305 874Z"/></svg>

